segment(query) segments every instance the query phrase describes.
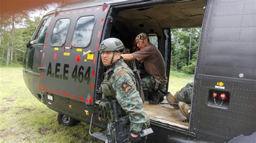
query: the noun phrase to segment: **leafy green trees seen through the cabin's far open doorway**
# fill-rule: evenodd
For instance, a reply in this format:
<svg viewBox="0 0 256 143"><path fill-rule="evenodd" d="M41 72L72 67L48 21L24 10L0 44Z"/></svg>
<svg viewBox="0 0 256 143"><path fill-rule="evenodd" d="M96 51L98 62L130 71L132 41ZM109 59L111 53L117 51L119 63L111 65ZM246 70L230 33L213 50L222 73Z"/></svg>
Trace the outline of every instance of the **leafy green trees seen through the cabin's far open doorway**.
<svg viewBox="0 0 256 143"><path fill-rule="evenodd" d="M180 28L171 30L171 66L173 68L188 74L194 73L199 38L200 28Z"/></svg>

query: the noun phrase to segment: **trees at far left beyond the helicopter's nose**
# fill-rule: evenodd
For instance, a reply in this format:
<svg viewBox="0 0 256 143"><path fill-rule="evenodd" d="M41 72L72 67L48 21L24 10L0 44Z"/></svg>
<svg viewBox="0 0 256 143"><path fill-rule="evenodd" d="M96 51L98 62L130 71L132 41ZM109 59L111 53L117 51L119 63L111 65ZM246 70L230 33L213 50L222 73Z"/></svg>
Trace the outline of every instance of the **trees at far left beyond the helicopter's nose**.
<svg viewBox="0 0 256 143"><path fill-rule="evenodd" d="M4 18L4 19L3 19ZM5 15L0 25L0 65L21 65L30 40L41 18L29 18L27 12Z"/></svg>

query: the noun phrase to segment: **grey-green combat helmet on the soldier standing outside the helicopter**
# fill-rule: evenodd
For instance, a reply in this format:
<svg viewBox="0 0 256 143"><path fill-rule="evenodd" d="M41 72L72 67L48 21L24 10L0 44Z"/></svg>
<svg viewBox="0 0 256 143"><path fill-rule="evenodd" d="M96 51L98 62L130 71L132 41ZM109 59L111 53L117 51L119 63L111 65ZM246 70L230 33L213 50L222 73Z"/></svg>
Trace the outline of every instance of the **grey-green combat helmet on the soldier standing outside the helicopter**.
<svg viewBox="0 0 256 143"><path fill-rule="evenodd" d="M113 51L113 52L124 52L124 44L117 38L107 38L103 40L99 45L99 51Z"/></svg>

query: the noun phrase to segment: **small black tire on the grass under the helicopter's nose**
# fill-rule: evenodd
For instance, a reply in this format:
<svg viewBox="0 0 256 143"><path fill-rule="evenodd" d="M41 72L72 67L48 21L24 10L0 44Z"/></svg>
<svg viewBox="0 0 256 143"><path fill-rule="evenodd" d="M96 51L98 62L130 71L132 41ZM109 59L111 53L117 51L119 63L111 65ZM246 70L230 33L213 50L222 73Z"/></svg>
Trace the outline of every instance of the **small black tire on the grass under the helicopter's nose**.
<svg viewBox="0 0 256 143"><path fill-rule="evenodd" d="M76 124L78 124L80 121L76 120L74 118L71 118L68 115L63 115L61 113L58 114L58 123L60 125L65 125L65 126L75 126Z"/></svg>

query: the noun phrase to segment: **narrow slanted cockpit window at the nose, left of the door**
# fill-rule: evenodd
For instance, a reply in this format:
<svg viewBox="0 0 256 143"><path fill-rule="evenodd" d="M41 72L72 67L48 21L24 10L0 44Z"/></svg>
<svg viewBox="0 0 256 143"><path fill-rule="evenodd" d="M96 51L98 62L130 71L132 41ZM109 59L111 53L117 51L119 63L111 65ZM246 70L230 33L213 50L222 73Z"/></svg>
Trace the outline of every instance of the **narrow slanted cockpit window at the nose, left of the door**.
<svg viewBox="0 0 256 143"><path fill-rule="evenodd" d="M35 37L35 43L36 44L44 44L44 39L46 35L46 31L48 30L48 26L51 22L52 17L48 17L43 21L43 24L41 25L41 28L39 29L36 37Z"/></svg>

